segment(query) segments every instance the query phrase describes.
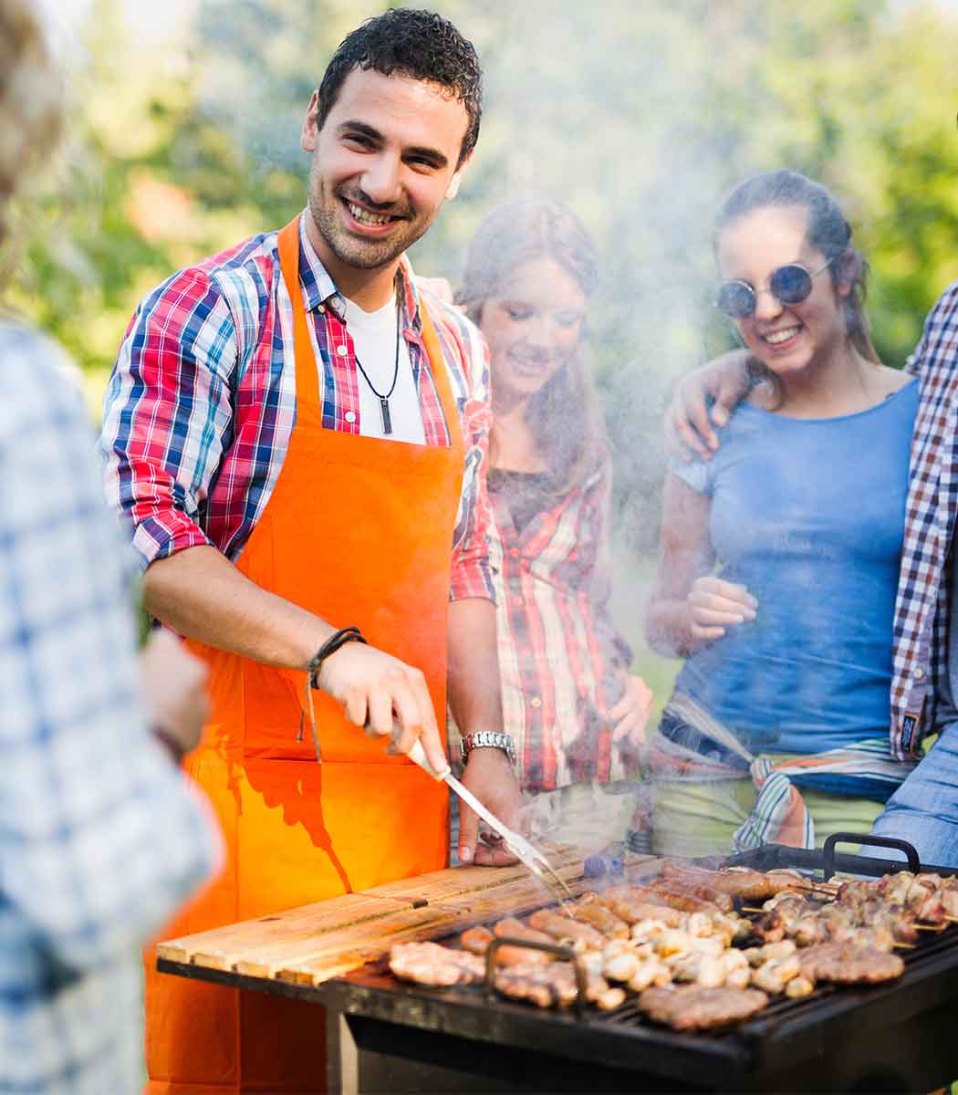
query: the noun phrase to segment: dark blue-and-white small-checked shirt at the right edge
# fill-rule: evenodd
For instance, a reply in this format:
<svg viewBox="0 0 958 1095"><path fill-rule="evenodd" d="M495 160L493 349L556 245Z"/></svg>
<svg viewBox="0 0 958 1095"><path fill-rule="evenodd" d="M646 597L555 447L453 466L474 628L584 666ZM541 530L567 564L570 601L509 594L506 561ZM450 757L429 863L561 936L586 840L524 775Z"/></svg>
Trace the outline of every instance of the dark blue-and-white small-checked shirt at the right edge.
<svg viewBox="0 0 958 1095"><path fill-rule="evenodd" d="M948 672L946 560L958 514L958 283L932 309L910 371L921 403L911 449L904 550L894 616L891 752L919 754Z"/></svg>

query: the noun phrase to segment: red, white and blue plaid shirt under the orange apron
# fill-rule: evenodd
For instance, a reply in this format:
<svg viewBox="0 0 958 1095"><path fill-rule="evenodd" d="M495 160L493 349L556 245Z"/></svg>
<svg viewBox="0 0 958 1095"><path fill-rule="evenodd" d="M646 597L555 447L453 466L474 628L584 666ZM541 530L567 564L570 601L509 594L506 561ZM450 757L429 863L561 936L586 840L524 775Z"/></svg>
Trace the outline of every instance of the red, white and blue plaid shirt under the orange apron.
<svg viewBox="0 0 958 1095"><path fill-rule="evenodd" d="M253 237L174 274L142 301L120 346L101 445L107 496L131 517L145 566L196 544L212 544L235 561L276 485L296 422L292 306L276 235ZM342 299L307 237L304 214L300 281L321 370L323 424L361 434L353 339ZM400 286L426 443L448 445L420 334L418 289L405 260ZM429 314L466 449L451 598L492 598L483 474L488 358L478 331L455 309L430 298Z"/></svg>

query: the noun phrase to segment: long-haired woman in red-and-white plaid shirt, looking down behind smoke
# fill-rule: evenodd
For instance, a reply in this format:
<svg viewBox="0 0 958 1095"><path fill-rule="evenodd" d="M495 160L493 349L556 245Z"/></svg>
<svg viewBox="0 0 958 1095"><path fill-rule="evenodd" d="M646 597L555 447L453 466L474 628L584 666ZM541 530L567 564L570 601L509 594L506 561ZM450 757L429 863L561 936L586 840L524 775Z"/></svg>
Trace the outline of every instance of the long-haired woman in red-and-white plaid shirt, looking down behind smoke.
<svg viewBox="0 0 958 1095"><path fill-rule="evenodd" d="M612 461L584 353L598 276L570 209L520 200L478 227L458 297L492 362L505 724L532 835L586 853L628 834L651 701L609 612Z"/></svg>

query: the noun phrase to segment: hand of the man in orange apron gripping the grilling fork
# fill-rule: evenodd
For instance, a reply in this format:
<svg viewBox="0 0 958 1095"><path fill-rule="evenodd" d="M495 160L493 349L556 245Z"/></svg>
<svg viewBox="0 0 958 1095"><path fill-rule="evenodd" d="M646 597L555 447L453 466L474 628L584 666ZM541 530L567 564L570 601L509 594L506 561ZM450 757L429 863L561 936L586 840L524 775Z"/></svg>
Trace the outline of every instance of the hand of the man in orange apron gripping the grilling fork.
<svg viewBox="0 0 958 1095"><path fill-rule="evenodd" d="M418 739L437 772L448 766L432 698L418 669L374 646L347 643L323 662L319 683L343 704L354 726L392 737L392 752L407 753Z"/></svg>

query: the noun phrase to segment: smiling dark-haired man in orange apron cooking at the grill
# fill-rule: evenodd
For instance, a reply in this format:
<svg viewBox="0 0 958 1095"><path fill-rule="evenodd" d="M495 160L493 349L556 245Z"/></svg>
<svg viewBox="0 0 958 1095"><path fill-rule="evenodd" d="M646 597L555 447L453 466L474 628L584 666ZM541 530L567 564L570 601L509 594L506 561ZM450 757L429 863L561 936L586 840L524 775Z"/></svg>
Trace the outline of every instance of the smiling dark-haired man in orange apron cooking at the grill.
<svg viewBox="0 0 958 1095"><path fill-rule="evenodd" d="M174 274L120 347L107 489L147 608L210 666L213 719L188 768L231 849L170 935L443 866L445 789L402 754L422 740L445 764L447 688L473 746L464 782L515 817L488 367L477 331L426 301L404 257L454 196L480 115L478 61L450 23L365 23L307 111L307 210ZM475 846L468 815L460 855L505 858ZM315 1007L150 965L149 1091L323 1090Z"/></svg>

